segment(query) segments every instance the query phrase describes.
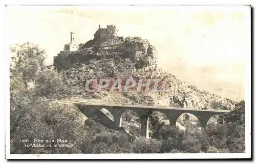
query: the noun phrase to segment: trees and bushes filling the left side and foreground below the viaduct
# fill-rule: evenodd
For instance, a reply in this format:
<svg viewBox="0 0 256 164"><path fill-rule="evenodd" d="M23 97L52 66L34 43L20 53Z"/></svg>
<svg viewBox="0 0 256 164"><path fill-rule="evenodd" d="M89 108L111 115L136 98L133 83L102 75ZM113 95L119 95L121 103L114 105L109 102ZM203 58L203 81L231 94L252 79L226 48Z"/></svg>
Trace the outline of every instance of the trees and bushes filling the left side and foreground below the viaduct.
<svg viewBox="0 0 256 164"><path fill-rule="evenodd" d="M236 103L224 121L185 131L151 118L151 139L129 142L127 135L87 118L70 104L43 100L69 98L74 83L67 72L45 66L45 51L25 43L11 47L11 153L221 153L245 151L245 102ZM99 63L99 62L98 62ZM99 72L103 73L103 72ZM87 72L89 75L89 72ZM72 76L72 74L70 74ZM136 99L136 97L135 97ZM129 119L129 118L127 118ZM138 130L134 129L135 133ZM73 148L25 147L21 140L67 140Z"/></svg>

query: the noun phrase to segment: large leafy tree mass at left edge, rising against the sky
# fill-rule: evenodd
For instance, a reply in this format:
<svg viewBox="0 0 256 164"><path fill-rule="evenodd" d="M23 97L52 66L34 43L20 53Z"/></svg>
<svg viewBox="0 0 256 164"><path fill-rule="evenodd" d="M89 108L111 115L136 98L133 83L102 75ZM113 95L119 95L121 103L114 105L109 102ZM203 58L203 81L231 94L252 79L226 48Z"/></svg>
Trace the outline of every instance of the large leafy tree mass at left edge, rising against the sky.
<svg viewBox="0 0 256 164"><path fill-rule="evenodd" d="M11 46L10 50L10 128L14 132L37 100L59 98L68 87L61 73L44 65L45 50L29 42Z"/></svg>

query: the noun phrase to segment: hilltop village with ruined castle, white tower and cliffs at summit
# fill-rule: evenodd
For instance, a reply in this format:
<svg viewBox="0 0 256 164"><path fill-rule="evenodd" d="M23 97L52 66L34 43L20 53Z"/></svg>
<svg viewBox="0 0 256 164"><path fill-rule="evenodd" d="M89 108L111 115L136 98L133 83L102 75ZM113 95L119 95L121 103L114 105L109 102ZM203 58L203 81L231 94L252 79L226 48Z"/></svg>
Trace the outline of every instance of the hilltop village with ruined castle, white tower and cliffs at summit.
<svg viewBox="0 0 256 164"><path fill-rule="evenodd" d="M94 34L94 39L76 46L74 33L71 32L71 42L65 45L54 57L54 67L69 69L76 62L84 62L93 58L100 58L109 54L117 54L124 59L131 59L136 63L136 69L157 67L157 50L150 42L140 37L118 37L115 25L107 25Z"/></svg>

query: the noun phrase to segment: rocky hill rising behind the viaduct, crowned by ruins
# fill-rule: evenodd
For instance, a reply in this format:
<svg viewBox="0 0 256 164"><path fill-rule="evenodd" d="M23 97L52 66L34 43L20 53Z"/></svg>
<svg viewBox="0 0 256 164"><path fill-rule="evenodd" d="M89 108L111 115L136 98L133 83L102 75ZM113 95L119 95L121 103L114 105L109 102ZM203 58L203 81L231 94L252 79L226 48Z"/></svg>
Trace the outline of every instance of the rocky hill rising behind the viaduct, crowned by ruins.
<svg viewBox="0 0 256 164"><path fill-rule="evenodd" d="M69 54L58 54L54 66L66 76L66 82L72 84L72 98L67 100L97 103L153 105L171 107L201 108L204 110L232 110L236 102L211 94L195 86L188 85L176 76L166 73L157 65L157 50L146 39L140 37L119 37L113 30L99 29L94 38L80 44L77 51ZM115 29L114 29L115 30ZM108 88L87 92L86 81L98 79L97 83L90 83L90 89L99 88L98 82L105 78L110 80ZM109 92L115 79L121 79L122 91L125 80L165 79L166 92L137 91L136 86L128 92ZM163 80L158 89L161 89ZM151 89L154 83L151 83ZM124 126L127 131L138 131L140 124L136 122L136 114L127 113ZM153 114L163 122L168 119L163 114ZM188 120L191 120L191 116ZM192 119L193 120L193 119ZM194 119L195 120L195 119ZM184 122L179 121L184 126ZM130 126L128 126L130 125ZM180 126L181 129L184 129ZM132 127L129 128L129 127ZM136 132L135 132L136 133Z"/></svg>

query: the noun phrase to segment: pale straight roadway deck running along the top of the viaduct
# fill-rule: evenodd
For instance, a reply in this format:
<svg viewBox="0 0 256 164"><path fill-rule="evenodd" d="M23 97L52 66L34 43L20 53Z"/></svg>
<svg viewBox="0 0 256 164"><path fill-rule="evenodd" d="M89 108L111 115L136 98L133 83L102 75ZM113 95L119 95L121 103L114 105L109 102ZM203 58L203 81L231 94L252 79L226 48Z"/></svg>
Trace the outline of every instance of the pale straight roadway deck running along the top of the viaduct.
<svg viewBox="0 0 256 164"><path fill-rule="evenodd" d="M58 101L75 104L86 104L86 105L99 105L99 106L120 106L120 107L138 107L138 108L158 108L164 110L185 110L185 111L201 111L201 112L220 112L230 113L229 110L201 110L200 108L182 108L182 107L165 107L165 106L145 106L145 105L127 105L127 104L104 104L104 103L88 103L88 102L76 102L76 101Z"/></svg>

